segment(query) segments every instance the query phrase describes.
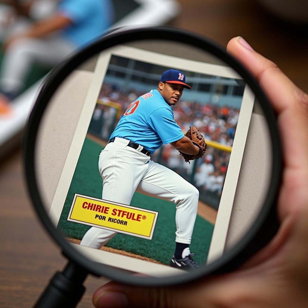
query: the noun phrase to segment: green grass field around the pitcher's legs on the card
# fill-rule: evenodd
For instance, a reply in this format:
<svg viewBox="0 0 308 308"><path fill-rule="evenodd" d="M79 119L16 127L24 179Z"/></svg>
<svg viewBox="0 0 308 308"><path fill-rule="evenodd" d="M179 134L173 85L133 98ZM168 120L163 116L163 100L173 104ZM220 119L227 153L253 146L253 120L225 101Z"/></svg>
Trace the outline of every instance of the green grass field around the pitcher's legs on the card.
<svg viewBox="0 0 308 308"><path fill-rule="evenodd" d="M102 178L98 171L98 159L102 149L101 145L88 138L85 139L59 221L59 226L68 237L82 239L90 228L87 225L67 221L74 194L102 197ZM118 233L106 246L169 264L175 248L175 204L135 193L131 205L159 212L152 240ZM195 259L198 263L206 261L213 227L213 224L197 216L190 250L197 253Z"/></svg>

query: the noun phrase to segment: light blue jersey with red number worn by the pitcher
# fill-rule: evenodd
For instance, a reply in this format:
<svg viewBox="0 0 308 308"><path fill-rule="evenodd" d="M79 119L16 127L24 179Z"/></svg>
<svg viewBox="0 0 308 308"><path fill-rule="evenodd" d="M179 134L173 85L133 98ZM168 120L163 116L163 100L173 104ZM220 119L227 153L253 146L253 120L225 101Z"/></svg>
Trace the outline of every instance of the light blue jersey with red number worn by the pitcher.
<svg viewBox="0 0 308 308"><path fill-rule="evenodd" d="M110 138L120 137L142 145L152 154L162 144L184 137L172 108L158 90L141 95L130 104Z"/></svg>

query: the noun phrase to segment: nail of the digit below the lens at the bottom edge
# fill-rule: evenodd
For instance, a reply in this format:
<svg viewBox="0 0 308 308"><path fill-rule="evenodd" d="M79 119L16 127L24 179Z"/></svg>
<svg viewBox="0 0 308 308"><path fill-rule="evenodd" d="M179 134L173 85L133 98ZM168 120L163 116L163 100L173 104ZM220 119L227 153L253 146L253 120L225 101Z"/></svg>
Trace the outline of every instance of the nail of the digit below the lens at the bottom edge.
<svg viewBox="0 0 308 308"><path fill-rule="evenodd" d="M96 308L125 308L128 307L128 300L124 293L104 291L94 300Z"/></svg>

